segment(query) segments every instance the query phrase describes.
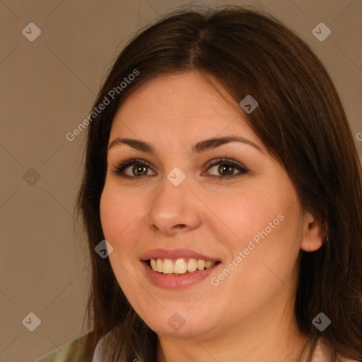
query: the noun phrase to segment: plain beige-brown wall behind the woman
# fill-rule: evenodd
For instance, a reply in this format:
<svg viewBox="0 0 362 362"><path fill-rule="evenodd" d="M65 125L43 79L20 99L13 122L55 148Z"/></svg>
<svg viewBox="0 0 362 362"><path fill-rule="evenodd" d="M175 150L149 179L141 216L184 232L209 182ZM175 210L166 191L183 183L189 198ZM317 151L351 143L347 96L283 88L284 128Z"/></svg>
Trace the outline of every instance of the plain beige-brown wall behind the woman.
<svg viewBox="0 0 362 362"><path fill-rule="evenodd" d="M185 4L0 1L1 362L35 361L88 332L82 321L90 268L85 238L74 233L72 216L85 140L84 134L74 141L65 136L88 115L105 72L132 33ZM189 4L250 4L296 30L332 75L362 155L357 139L362 132L362 1ZM312 34L320 22L332 30L323 42ZM28 23L42 32L33 42L22 33ZM22 322L29 313L41 320L33 332Z"/></svg>

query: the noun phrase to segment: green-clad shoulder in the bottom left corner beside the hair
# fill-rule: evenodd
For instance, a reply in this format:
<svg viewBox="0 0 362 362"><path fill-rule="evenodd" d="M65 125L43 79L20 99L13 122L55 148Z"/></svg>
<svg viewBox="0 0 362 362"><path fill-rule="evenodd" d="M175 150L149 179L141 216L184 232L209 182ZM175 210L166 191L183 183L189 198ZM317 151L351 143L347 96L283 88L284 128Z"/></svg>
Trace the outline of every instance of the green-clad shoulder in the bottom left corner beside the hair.
<svg viewBox="0 0 362 362"><path fill-rule="evenodd" d="M50 351L36 362L83 362L83 346L89 333L66 342L66 344Z"/></svg>

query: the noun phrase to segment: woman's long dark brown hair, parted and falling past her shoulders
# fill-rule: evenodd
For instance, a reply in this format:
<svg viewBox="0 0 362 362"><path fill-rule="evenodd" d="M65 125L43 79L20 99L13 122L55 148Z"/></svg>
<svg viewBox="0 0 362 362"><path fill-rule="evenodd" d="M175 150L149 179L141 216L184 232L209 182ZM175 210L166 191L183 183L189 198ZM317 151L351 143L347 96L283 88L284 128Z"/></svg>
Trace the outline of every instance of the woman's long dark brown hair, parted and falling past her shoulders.
<svg viewBox="0 0 362 362"><path fill-rule="evenodd" d="M331 78L313 51L291 30L261 11L227 6L177 11L143 30L119 54L95 106L132 74L115 100L88 127L86 164L78 194L92 265L86 353L107 332L109 346L127 361L156 362L157 335L137 315L113 274L109 259L95 253L104 239L100 195L107 172L112 119L129 94L170 71L198 71L214 78L238 106L252 95L259 107L247 122L286 169L305 211L327 225L328 239L315 252L300 251L295 313L298 328L319 337L337 356L362 359L361 164L346 114ZM312 324L320 312L332 324ZM114 360L115 361L115 360Z"/></svg>

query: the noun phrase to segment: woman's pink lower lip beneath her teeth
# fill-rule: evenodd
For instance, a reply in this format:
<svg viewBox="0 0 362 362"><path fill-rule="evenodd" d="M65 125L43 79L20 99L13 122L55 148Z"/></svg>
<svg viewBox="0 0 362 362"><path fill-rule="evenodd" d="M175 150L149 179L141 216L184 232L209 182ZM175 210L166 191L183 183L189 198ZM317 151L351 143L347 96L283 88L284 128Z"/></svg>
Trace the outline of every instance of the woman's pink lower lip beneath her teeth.
<svg viewBox="0 0 362 362"><path fill-rule="evenodd" d="M141 263L146 271L146 276L154 285L168 289L187 288L188 286L199 284L221 265L221 263L218 263L209 269L193 271L192 273L167 275L158 273L158 271L153 271L148 265L148 262L142 261Z"/></svg>

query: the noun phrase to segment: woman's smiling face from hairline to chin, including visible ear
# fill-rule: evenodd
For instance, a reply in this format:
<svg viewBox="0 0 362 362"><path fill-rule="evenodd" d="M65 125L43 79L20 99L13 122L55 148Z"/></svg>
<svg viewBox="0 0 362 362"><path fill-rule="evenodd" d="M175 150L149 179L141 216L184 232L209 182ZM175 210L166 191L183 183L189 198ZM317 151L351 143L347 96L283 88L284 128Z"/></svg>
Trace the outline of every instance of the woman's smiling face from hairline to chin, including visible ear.
<svg viewBox="0 0 362 362"><path fill-rule="evenodd" d="M102 227L119 286L146 324L216 337L281 317L300 248L321 239L243 116L199 74L163 75L120 107L109 145Z"/></svg>

